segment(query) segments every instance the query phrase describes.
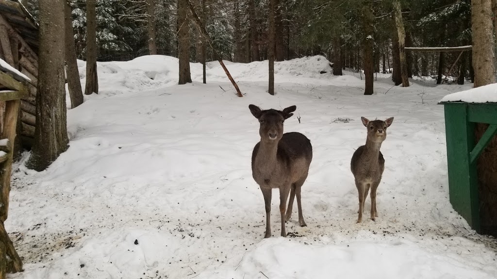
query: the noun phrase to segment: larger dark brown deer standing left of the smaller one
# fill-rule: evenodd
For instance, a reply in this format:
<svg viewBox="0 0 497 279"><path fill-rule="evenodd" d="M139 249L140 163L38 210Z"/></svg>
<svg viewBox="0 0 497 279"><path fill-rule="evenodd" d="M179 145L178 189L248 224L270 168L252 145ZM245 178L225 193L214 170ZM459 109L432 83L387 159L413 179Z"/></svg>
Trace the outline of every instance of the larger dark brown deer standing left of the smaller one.
<svg viewBox="0 0 497 279"><path fill-rule="evenodd" d="M296 106L283 111L261 110L254 105L249 105L248 108L260 123L260 141L255 144L252 152L252 177L260 186L264 196L266 208L264 238L271 237L271 191L274 188L278 188L280 192L281 236L286 237L285 220L288 221L292 216L295 196L299 209L299 224L302 227L307 226L302 215L300 192L312 161L311 141L300 133L283 134L283 122L293 115ZM285 214L288 193L290 193L290 202Z"/></svg>

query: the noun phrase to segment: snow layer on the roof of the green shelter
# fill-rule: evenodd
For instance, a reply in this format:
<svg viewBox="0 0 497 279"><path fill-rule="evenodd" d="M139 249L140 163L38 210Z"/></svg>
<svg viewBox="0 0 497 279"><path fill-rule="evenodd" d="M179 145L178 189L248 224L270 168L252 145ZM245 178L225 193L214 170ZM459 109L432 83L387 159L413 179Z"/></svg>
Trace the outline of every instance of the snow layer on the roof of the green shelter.
<svg viewBox="0 0 497 279"><path fill-rule="evenodd" d="M452 93L440 102L497 103L497 83Z"/></svg>

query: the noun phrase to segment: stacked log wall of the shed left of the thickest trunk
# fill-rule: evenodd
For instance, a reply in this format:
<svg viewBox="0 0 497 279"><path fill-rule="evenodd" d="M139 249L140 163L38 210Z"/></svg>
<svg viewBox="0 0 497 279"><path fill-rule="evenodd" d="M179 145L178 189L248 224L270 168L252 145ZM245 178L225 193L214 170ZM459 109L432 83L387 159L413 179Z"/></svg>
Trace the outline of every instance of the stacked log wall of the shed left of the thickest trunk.
<svg viewBox="0 0 497 279"><path fill-rule="evenodd" d="M17 125L16 145L31 148L36 123L36 86L38 84L38 56L0 14L0 58L31 79L28 85L29 95L21 99ZM5 103L0 104L3 115ZM3 120L0 119L0 127Z"/></svg>

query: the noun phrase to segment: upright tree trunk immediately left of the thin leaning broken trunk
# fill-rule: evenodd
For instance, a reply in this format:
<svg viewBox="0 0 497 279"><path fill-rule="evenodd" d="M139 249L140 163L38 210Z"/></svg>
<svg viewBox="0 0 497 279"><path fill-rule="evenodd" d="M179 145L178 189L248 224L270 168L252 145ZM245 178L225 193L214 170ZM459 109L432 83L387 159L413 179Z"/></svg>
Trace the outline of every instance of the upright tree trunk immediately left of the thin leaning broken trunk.
<svg viewBox="0 0 497 279"><path fill-rule="evenodd" d="M188 24L188 0L178 0L178 84L191 82L190 74L190 26Z"/></svg>

